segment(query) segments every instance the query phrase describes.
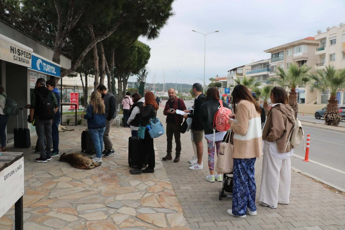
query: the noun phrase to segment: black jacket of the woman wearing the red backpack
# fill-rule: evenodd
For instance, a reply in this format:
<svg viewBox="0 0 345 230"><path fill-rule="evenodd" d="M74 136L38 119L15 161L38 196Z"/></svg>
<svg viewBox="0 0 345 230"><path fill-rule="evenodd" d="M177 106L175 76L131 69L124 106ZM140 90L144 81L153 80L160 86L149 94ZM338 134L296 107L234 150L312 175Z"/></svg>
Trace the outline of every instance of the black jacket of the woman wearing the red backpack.
<svg viewBox="0 0 345 230"><path fill-rule="evenodd" d="M219 106L219 101L211 99L203 103L200 107L199 118L201 123L203 123L204 125L205 135L213 133L213 120ZM225 101L223 101L223 106L225 108L230 109L230 107L226 104ZM216 132L218 132L218 130L216 130Z"/></svg>

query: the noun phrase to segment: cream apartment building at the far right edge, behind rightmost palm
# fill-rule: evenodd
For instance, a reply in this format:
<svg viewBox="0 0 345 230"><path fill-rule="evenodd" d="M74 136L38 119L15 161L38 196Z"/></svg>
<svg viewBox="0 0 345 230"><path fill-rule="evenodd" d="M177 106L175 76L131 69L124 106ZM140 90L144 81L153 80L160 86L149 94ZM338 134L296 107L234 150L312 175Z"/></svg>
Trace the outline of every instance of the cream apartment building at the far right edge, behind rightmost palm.
<svg viewBox="0 0 345 230"><path fill-rule="evenodd" d="M326 32L317 31L315 41L319 46L315 50L318 57L317 69L324 69L328 64L336 69L345 69L345 25L340 23L339 27L327 28ZM345 90L338 92L337 99L339 104L345 104ZM328 91L319 92L317 102L327 103Z"/></svg>

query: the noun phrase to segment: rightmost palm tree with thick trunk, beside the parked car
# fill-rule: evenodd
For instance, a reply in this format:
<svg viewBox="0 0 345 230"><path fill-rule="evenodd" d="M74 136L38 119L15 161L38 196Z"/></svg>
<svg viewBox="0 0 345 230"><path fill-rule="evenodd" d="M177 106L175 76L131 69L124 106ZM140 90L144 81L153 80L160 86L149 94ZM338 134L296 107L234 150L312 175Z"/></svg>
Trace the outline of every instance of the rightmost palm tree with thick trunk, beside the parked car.
<svg viewBox="0 0 345 230"><path fill-rule="evenodd" d="M327 110L325 112L325 124L327 126L338 126L342 117L338 111L336 95L339 90L345 89L345 69L336 70L334 66L328 65L325 70L316 70L311 73L310 78L315 81L312 87L324 92L329 91Z"/></svg>

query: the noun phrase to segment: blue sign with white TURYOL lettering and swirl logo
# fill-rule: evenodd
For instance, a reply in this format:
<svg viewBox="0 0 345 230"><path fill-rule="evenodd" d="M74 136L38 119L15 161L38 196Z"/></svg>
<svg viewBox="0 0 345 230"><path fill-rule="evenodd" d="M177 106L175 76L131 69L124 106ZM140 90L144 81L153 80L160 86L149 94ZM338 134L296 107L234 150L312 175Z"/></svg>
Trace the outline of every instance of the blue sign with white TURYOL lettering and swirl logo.
<svg viewBox="0 0 345 230"><path fill-rule="evenodd" d="M51 76L60 77L60 66L52 61L37 57L34 54L32 54L31 69Z"/></svg>

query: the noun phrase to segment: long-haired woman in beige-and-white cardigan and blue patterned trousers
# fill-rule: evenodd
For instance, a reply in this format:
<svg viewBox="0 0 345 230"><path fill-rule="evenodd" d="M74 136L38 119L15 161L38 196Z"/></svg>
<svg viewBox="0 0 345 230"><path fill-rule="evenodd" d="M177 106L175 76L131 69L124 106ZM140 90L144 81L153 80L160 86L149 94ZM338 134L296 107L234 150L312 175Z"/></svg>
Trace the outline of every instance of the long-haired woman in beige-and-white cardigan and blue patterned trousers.
<svg viewBox="0 0 345 230"><path fill-rule="evenodd" d="M234 187L232 209L227 212L245 218L247 213L256 216L254 164L262 153L261 109L241 84L234 88L232 97L235 115L229 123L234 132Z"/></svg>

